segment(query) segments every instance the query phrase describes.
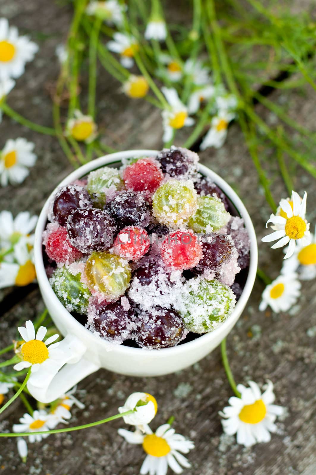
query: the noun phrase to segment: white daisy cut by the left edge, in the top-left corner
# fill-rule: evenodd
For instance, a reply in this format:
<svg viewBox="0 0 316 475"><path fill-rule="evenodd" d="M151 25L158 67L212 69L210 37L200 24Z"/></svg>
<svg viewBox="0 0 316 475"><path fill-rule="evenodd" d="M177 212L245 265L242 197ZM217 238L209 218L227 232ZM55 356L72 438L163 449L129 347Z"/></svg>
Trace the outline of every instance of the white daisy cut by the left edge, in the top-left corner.
<svg viewBox="0 0 316 475"><path fill-rule="evenodd" d="M18 28L9 27L6 18L0 18L0 80L20 77L38 49L27 36L19 36Z"/></svg>

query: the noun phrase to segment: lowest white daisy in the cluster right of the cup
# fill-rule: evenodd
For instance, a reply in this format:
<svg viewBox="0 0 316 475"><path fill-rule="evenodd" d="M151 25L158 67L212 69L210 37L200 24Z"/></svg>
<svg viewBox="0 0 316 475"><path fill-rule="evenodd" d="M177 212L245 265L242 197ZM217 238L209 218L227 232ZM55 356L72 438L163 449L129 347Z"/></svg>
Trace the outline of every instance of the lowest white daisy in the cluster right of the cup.
<svg viewBox="0 0 316 475"><path fill-rule="evenodd" d="M297 274L289 273L278 276L263 291L259 310L266 310L270 305L276 313L287 312L292 305L296 304L296 300L301 294L300 288L301 284L297 280Z"/></svg>

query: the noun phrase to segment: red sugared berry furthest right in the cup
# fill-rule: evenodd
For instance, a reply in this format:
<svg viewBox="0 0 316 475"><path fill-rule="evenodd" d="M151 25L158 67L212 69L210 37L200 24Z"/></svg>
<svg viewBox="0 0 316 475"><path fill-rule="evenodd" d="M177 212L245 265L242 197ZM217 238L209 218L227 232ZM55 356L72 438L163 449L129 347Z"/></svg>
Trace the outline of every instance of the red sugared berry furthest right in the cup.
<svg viewBox="0 0 316 475"><path fill-rule="evenodd" d="M202 257L202 246L193 231L173 231L161 244L161 257L165 265L175 270L191 269Z"/></svg>

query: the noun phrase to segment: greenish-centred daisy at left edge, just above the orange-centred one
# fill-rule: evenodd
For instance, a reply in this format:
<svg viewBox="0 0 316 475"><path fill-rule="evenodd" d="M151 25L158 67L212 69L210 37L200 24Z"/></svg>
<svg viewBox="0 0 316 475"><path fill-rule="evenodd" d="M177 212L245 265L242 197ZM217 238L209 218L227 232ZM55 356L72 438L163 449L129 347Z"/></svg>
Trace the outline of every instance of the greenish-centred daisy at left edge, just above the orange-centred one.
<svg viewBox="0 0 316 475"><path fill-rule="evenodd" d="M34 234L38 216L31 216L29 211L22 211L13 218L10 211L0 212L0 247L11 247L23 238L28 244L34 243Z"/></svg>

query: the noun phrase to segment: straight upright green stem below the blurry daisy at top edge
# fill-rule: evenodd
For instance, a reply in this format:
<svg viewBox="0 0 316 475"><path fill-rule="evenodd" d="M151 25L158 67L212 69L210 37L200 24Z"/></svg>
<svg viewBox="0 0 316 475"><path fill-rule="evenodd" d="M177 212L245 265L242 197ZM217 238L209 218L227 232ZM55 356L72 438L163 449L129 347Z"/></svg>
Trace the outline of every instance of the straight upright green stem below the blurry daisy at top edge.
<svg viewBox="0 0 316 475"><path fill-rule="evenodd" d="M89 43L89 91L88 91L88 114L95 118L96 87L97 87L97 57L98 40L102 20L95 19L90 34Z"/></svg>

